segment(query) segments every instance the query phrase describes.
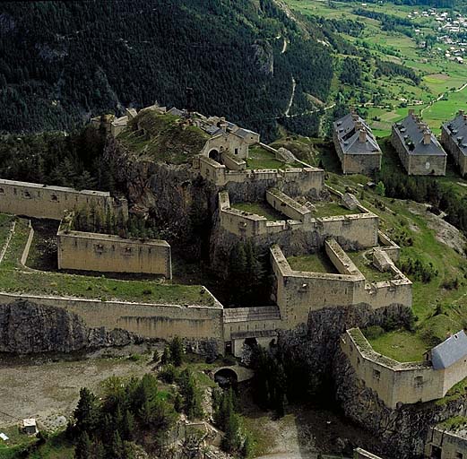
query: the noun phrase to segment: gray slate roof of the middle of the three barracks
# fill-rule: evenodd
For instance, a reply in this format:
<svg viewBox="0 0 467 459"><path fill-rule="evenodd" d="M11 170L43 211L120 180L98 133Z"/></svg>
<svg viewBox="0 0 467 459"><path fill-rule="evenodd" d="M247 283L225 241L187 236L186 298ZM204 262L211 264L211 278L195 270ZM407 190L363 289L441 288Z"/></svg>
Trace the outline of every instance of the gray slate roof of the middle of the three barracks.
<svg viewBox="0 0 467 459"><path fill-rule="evenodd" d="M417 120L411 114L393 125L395 132L399 135L405 151L413 155L446 156L441 144L437 141L435 134L430 131L431 142L423 143L423 132L425 128L419 127ZM428 129L429 130L429 129ZM409 148L406 141L413 143L413 150Z"/></svg>

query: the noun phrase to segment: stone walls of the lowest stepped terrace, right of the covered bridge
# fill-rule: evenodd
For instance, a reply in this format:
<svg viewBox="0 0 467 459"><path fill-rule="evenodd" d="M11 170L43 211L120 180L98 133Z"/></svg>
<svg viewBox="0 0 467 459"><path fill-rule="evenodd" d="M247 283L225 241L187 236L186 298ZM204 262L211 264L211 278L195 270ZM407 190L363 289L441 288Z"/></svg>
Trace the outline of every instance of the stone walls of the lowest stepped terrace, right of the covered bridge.
<svg viewBox="0 0 467 459"><path fill-rule="evenodd" d="M411 281L394 265L393 280L369 283L333 238L324 242L324 249L339 274L293 271L281 248L271 247L277 304L288 326L307 324L309 312L324 307L411 307Z"/></svg>

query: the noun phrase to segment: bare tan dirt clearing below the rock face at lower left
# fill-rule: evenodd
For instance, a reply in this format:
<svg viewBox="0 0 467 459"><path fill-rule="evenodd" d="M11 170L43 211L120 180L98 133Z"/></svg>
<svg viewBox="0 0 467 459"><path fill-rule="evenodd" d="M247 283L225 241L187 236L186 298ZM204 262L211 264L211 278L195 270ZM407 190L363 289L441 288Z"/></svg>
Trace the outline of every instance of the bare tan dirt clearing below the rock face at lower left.
<svg viewBox="0 0 467 459"><path fill-rule="evenodd" d="M68 417L76 406L80 388L99 390L111 376L142 376L151 371L146 360L127 358L48 361L21 359L0 361L0 427L24 418L36 418L43 427L52 428L60 415Z"/></svg>

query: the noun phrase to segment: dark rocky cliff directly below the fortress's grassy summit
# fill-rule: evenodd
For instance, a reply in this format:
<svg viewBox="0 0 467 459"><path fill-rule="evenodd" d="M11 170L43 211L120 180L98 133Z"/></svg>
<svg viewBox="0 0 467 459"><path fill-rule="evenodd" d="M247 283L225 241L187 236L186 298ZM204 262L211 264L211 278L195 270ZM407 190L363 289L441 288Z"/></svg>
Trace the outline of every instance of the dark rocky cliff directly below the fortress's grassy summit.
<svg viewBox="0 0 467 459"><path fill-rule="evenodd" d="M125 190L130 212L151 216L160 236L186 245L187 255L199 256L201 238L211 225L215 191L191 169L191 164L166 164L129 152L117 139L108 139L105 158Z"/></svg>

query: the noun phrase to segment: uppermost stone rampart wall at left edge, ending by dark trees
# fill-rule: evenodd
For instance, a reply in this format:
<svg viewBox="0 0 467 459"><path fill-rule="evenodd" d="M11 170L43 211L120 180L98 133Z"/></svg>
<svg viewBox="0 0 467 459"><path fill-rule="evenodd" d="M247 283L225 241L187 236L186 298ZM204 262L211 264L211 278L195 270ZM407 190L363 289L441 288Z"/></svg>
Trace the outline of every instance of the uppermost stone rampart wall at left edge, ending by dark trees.
<svg viewBox="0 0 467 459"><path fill-rule="evenodd" d="M0 179L0 212L61 220L65 211L85 205L103 212L114 209L113 198L107 192Z"/></svg>

